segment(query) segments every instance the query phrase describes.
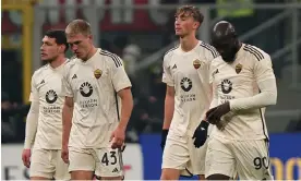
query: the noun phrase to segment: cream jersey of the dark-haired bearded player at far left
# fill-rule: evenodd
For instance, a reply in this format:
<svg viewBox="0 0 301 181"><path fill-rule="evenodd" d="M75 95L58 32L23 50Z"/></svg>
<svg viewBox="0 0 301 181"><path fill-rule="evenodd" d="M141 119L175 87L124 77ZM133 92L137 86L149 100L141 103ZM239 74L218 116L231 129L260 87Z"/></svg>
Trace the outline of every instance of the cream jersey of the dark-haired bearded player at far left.
<svg viewBox="0 0 301 181"><path fill-rule="evenodd" d="M52 69L46 64L35 71L32 77L29 100L39 102L34 148L61 149L62 106L64 102L62 73L64 65L65 63Z"/></svg>

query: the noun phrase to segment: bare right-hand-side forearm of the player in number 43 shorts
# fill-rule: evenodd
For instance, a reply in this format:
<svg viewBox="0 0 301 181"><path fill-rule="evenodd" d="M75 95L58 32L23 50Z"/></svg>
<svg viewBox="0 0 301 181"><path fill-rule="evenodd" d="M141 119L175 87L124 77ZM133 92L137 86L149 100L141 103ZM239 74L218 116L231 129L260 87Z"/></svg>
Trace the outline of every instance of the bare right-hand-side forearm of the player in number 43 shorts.
<svg viewBox="0 0 301 181"><path fill-rule="evenodd" d="M125 130L133 110L133 98L132 96L124 96L121 98L121 116L119 128Z"/></svg>

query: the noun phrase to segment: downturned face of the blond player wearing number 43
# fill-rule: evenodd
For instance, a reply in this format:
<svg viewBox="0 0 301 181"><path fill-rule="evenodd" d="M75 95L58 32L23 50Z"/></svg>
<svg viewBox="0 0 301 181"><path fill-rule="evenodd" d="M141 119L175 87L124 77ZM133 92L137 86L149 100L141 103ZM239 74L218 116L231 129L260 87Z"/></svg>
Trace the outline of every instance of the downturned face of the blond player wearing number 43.
<svg viewBox="0 0 301 181"><path fill-rule="evenodd" d="M83 34L68 35L67 41L72 52L82 60L86 60L92 48L92 36Z"/></svg>

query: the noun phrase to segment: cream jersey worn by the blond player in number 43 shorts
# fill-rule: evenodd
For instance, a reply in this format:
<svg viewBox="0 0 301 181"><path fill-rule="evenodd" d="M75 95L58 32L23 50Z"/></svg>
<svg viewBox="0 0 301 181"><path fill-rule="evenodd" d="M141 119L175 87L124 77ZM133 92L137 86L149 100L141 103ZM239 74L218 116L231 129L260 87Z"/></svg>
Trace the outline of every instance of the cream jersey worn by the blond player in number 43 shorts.
<svg viewBox="0 0 301 181"><path fill-rule="evenodd" d="M65 68L65 96L74 100L69 146L107 147L120 116L117 93L131 87L122 60L98 49L89 60L74 58Z"/></svg>

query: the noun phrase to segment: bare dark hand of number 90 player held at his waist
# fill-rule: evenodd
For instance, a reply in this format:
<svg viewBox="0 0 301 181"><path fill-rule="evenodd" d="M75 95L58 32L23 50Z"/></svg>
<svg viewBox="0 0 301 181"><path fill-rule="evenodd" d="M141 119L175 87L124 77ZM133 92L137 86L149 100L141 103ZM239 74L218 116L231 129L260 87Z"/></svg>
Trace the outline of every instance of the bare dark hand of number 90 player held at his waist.
<svg viewBox="0 0 301 181"><path fill-rule="evenodd" d="M206 119L208 120L209 123L212 124L218 124L218 122L220 121L220 118L228 113L230 111L230 104L229 101L219 105L215 108L209 109L206 112Z"/></svg>

